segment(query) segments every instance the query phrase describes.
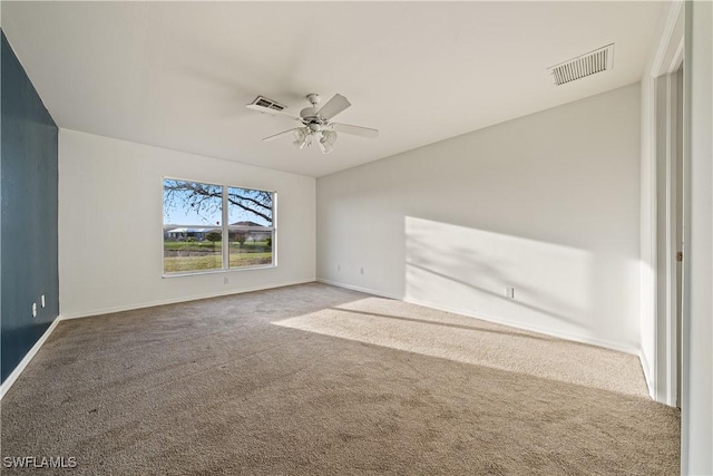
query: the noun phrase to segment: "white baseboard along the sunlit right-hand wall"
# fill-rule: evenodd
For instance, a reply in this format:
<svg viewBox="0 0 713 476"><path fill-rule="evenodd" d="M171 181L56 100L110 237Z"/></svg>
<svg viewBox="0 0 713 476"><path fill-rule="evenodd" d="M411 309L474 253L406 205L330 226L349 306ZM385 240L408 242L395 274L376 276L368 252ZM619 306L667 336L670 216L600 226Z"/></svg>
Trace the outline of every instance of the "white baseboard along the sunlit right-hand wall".
<svg viewBox="0 0 713 476"><path fill-rule="evenodd" d="M627 346L621 342L608 341L605 339L597 339L589 336L580 336L574 332L563 332L558 329L553 329L544 326L522 326L522 323L520 322L515 322L509 319L501 318L499 315L488 315L488 314L484 314L469 309L460 309L460 308L442 305L433 302L421 301L412 298L391 295L380 291L370 290L367 288L360 288L352 284L340 283L340 282L325 280L321 278L318 278L318 281L325 284L335 285L339 288L351 289L354 291L365 292L365 293L379 295L382 298L395 299L395 300L408 302L411 304L423 305L424 308L431 308L431 309L437 309L439 311L452 312L453 314L461 314L461 315L467 315L469 318L481 319L484 321L492 322L496 324L509 326L515 329L520 329L520 330L530 331L530 332L539 332L539 333L555 337L558 339L565 339L574 342L586 343L589 346L602 347L604 349L616 350L618 352L624 352L624 353L631 353L637 357L641 354L641 349L638 347Z"/></svg>

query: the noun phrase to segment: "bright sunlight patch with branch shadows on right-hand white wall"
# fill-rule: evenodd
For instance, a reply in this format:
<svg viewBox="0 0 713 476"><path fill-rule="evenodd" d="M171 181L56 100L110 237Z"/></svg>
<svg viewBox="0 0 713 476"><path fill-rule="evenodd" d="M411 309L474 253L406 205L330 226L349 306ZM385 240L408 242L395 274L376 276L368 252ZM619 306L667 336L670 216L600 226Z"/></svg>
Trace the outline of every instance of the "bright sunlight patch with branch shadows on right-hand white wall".
<svg viewBox="0 0 713 476"><path fill-rule="evenodd" d="M412 216L404 231L407 301L561 333L589 331L590 252Z"/></svg>

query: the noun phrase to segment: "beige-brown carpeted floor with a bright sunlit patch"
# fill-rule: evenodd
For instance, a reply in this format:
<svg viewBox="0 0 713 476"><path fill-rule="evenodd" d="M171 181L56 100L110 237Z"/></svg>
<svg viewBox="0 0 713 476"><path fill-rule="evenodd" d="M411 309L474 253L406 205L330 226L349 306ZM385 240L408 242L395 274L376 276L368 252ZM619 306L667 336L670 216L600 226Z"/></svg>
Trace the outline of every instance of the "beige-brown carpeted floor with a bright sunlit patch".
<svg viewBox="0 0 713 476"><path fill-rule="evenodd" d="M61 322L1 416L3 458L74 457L68 474L680 464L678 411L633 356L318 283Z"/></svg>

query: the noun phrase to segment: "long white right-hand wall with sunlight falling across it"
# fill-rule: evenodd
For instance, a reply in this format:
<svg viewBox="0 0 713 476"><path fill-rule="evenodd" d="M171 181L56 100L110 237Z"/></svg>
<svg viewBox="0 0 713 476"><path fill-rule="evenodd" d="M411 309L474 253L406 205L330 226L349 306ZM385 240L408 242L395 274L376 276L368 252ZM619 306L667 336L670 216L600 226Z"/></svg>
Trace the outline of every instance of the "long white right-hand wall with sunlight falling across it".
<svg viewBox="0 0 713 476"><path fill-rule="evenodd" d="M319 178L318 279L638 352L639 114L632 85Z"/></svg>

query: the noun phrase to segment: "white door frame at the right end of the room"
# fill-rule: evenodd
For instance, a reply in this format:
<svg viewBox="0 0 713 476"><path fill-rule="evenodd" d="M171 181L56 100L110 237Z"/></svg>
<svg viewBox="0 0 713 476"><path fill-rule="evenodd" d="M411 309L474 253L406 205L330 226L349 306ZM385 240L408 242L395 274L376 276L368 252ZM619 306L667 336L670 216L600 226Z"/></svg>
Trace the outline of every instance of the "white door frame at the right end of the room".
<svg viewBox="0 0 713 476"><path fill-rule="evenodd" d="M661 42L652 66L643 81L648 81L649 108L647 120L651 150L651 264L652 280L643 282L643 295L653 298L649 309L654 312L654 354L651 362L642 359L649 394L653 399L670 406L680 400L678 381L681 372L680 319L677 315L676 284L676 223L683 216L676 216L676 161L677 144L677 74L684 61L685 3L672 2L663 28ZM685 81L684 81L685 82ZM684 124L685 127L685 124ZM683 133L685 135L685 130ZM685 153L684 153L685 154ZM685 166L685 165L684 165ZM683 187L685 171L683 174ZM685 196L685 195L683 195ZM683 203L685 215L685 203ZM685 242L685 227L683 241ZM682 270L682 275L684 275ZM685 286L685 282L683 283ZM644 311L644 310L643 310ZM644 311L646 312L646 311ZM645 318L645 317L644 317Z"/></svg>

